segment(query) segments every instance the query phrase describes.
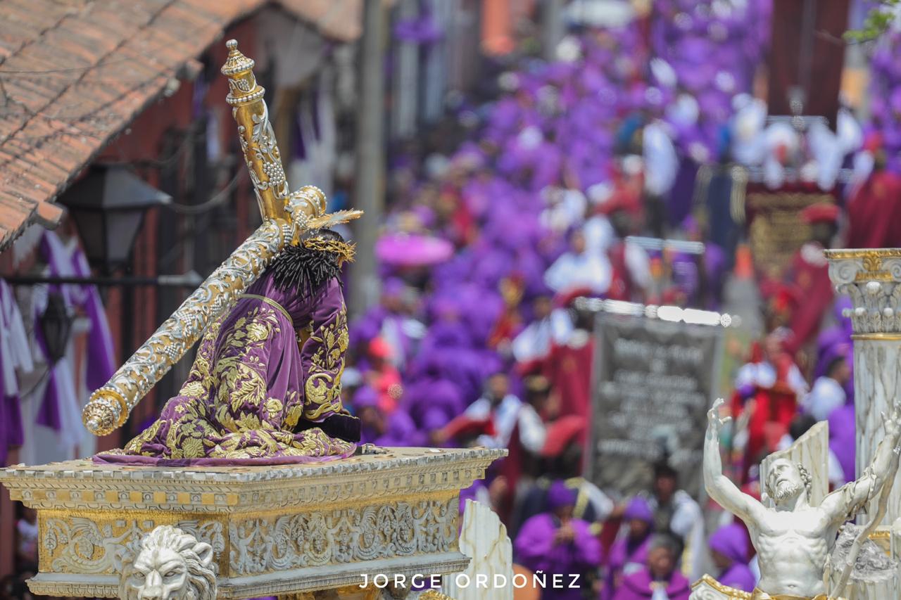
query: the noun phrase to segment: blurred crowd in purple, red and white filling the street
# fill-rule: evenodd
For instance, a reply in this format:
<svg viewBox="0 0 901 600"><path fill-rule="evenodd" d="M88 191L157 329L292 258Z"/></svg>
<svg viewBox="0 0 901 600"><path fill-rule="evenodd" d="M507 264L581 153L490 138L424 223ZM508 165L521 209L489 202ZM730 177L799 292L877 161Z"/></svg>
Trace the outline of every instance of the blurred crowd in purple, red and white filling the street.
<svg viewBox="0 0 901 600"><path fill-rule="evenodd" d="M578 32L555 62L504 65L454 134L394 155L381 298L351 325L343 385L364 441L509 450L461 503L494 507L523 568L591 582L547 597L687 598L704 572L748 591L757 577L742 525L705 517L665 458L634 497L581 477L594 315L580 296L750 314L752 342L727 350L733 478L760 496L760 459L824 420L831 483L854 475L850 305L823 250L901 243L879 216L901 203L886 135L844 109L835 131L768 123L750 18L767 3L669 4L668 24ZM730 213L738 182L697 193L699 169L735 164L763 189L834 197L796 214L809 235L778 272L756 267Z"/></svg>

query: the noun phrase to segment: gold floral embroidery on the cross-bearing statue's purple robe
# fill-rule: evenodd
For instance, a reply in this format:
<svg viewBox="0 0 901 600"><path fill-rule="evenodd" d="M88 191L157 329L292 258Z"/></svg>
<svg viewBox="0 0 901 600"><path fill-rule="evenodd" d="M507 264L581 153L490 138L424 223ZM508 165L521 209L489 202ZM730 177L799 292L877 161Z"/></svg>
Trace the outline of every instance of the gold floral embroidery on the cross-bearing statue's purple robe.
<svg viewBox="0 0 901 600"><path fill-rule="evenodd" d="M349 454L352 442L334 440L319 428L295 432L302 417L341 411L341 372L348 347L343 305L309 340L311 367L305 385L300 369L288 369L283 374L295 377L296 383L282 387L281 395L273 393L268 379L279 377L278 369L284 368L278 355L271 354L273 341L284 339L279 338L287 327L283 315L261 303L223 329L226 321L228 317L211 324L178 395L125 452L171 459ZM287 339L293 346L295 336L290 333ZM274 373L268 372L270 360Z"/></svg>

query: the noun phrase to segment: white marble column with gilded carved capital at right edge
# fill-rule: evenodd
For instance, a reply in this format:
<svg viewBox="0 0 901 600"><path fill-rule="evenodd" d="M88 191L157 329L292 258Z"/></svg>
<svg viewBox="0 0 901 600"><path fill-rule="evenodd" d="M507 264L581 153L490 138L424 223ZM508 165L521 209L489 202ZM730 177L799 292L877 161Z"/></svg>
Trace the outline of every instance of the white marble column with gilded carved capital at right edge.
<svg viewBox="0 0 901 600"><path fill-rule="evenodd" d="M901 249L826 250L829 277L839 294L851 297L854 340L854 397L857 474L869 465L882 440L882 414L890 414L901 373ZM854 476L846 474L846 478ZM901 477L897 477L901 478ZM901 516L896 478L883 525ZM870 514L875 514L870 506ZM863 517L866 519L866 517Z"/></svg>

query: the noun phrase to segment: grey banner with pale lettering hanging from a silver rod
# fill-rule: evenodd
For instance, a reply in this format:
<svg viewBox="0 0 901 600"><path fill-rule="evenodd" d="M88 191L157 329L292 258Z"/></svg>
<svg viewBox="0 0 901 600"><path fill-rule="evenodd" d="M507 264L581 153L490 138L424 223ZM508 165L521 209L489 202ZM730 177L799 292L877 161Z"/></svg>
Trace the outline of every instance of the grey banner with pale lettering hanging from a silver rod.
<svg viewBox="0 0 901 600"><path fill-rule="evenodd" d="M669 457L680 486L700 493L706 410L714 399L723 328L598 314L588 471L602 489L649 489Z"/></svg>

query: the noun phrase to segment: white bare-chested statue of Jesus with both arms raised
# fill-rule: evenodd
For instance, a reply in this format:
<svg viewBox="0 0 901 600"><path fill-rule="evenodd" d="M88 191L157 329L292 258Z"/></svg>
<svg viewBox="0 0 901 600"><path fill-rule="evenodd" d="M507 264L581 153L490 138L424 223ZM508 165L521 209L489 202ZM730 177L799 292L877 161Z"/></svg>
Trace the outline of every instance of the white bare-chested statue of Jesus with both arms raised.
<svg viewBox="0 0 901 600"><path fill-rule="evenodd" d="M892 472L899 451L901 410L895 405L885 419L886 437L857 481L827 495L818 506L810 504L811 477L800 464L776 459L770 465L764 492L775 506L762 505L743 494L723 475L720 430L729 417L720 417L718 399L707 412L704 481L707 493L748 526L760 561L760 582L753 600L826 600L824 570L843 523L878 496Z"/></svg>

